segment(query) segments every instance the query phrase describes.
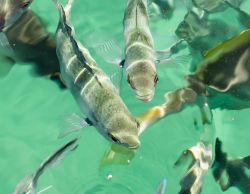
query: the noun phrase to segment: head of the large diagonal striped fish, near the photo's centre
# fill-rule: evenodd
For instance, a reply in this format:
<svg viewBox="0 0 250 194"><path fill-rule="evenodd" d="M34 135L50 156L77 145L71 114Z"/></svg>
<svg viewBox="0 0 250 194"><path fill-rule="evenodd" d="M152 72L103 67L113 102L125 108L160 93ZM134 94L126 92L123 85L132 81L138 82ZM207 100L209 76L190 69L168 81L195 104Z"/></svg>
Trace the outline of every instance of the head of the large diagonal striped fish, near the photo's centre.
<svg viewBox="0 0 250 194"><path fill-rule="evenodd" d="M140 146L139 122L129 115L116 115L114 122L109 124L107 134L109 140L130 149Z"/></svg>

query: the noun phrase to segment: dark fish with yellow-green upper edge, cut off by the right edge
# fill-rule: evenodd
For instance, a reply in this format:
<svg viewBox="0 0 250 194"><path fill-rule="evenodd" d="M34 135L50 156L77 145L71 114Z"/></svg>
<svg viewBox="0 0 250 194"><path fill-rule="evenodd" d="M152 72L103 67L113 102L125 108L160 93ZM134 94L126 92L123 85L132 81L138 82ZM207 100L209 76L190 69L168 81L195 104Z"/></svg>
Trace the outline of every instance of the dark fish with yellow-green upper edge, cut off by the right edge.
<svg viewBox="0 0 250 194"><path fill-rule="evenodd" d="M249 107L249 44L250 30L242 31L208 50L196 71L186 77L197 93L206 93L211 108Z"/></svg>

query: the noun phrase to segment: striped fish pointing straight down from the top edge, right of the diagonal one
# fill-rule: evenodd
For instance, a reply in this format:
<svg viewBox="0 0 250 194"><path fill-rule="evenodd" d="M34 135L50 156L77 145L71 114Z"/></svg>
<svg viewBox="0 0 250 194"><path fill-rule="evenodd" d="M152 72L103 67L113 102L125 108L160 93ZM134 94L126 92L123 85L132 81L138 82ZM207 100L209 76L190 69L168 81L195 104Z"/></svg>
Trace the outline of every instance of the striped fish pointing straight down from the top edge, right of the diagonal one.
<svg viewBox="0 0 250 194"><path fill-rule="evenodd" d="M138 99L150 101L158 81L147 0L128 0L124 14L125 62L128 82Z"/></svg>

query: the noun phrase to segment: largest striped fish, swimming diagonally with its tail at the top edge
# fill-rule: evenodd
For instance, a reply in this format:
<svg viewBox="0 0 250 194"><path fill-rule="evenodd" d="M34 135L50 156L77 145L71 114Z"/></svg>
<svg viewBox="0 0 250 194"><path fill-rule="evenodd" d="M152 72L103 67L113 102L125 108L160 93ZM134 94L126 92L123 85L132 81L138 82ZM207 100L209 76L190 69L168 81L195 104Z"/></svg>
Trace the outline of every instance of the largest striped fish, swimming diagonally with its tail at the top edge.
<svg viewBox="0 0 250 194"><path fill-rule="evenodd" d="M60 12L56 44L62 79L88 123L112 142L137 148L140 145L139 122L127 109L110 78L73 37L73 28L69 24L73 1L68 1L66 11L57 0L54 2Z"/></svg>

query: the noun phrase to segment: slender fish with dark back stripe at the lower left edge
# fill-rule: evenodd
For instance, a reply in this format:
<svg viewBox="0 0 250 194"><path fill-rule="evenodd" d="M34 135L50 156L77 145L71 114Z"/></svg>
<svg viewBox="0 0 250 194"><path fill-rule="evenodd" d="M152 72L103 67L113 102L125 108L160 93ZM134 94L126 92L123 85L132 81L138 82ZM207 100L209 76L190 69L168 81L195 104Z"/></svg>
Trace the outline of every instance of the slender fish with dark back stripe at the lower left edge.
<svg viewBox="0 0 250 194"><path fill-rule="evenodd" d="M41 163L38 169L29 176L26 176L21 180L12 194L35 194L36 187L40 176L48 170L48 168L58 164L69 152L75 150L78 146L78 138L72 139L65 145L56 150L51 156L49 156L44 162ZM49 187L47 187L48 189ZM41 192L39 192L41 193Z"/></svg>

